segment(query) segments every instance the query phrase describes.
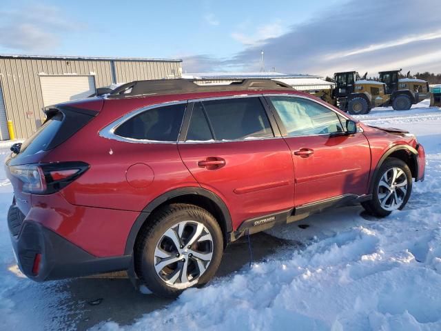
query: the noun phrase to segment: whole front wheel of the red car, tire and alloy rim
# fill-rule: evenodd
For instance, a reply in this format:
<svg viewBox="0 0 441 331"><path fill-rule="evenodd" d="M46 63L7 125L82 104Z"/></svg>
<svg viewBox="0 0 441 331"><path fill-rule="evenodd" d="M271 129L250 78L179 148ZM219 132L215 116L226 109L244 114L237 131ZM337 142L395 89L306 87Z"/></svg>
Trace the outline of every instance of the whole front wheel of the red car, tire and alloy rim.
<svg viewBox="0 0 441 331"><path fill-rule="evenodd" d="M391 179L396 176L391 186ZM404 183L405 185L400 185ZM391 190L389 190L391 188ZM391 157L380 166L373 181L372 199L362 202L363 208L376 217L387 217L393 210L402 210L412 192L412 174L406 163Z"/></svg>

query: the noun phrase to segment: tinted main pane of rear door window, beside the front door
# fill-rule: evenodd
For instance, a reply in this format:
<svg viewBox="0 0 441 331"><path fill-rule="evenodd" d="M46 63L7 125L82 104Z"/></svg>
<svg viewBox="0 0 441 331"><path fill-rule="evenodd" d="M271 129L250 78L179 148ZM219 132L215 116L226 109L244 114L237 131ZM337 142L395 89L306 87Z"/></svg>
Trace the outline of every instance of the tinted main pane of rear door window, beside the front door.
<svg viewBox="0 0 441 331"><path fill-rule="evenodd" d="M202 104L216 141L274 137L265 109L256 97Z"/></svg>

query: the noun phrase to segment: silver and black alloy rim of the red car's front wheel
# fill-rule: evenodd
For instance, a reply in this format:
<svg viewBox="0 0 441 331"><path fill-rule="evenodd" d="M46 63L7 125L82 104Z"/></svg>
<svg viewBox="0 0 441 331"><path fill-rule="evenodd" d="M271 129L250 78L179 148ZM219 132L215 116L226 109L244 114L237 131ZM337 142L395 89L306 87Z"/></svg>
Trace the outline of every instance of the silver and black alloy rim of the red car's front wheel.
<svg viewBox="0 0 441 331"><path fill-rule="evenodd" d="M384 210L399 209L407 194L407 176L400 168L390 168L384 172L378 183L378 199Z"/></svg>

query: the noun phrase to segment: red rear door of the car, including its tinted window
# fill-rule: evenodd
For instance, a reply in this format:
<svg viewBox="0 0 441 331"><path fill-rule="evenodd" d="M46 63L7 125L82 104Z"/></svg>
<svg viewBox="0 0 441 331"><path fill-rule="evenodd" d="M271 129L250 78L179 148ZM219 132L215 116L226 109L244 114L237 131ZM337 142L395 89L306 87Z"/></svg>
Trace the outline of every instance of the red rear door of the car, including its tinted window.
<svg viewBox="0 0 441 331"><path fill-rule="evenodd" d="M262 101L256 96L195 102L185 141L178 143L196 181L227 203L234 228L294 204L291 152L271 128Z"/></svg>

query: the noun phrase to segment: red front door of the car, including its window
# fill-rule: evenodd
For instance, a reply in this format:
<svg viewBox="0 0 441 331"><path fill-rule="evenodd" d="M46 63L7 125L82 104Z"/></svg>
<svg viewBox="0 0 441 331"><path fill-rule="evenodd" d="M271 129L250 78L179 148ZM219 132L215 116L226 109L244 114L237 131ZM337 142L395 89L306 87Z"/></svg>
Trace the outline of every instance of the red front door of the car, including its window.
<svg viewBox="0 0 441 331"><path fill-rule="evenodd" d="M296 206L366 193L371 154L362 132L345 134L345 117L311 99L267 100L291 149Z"/></svg>

